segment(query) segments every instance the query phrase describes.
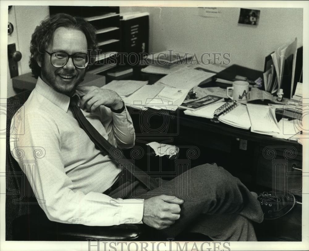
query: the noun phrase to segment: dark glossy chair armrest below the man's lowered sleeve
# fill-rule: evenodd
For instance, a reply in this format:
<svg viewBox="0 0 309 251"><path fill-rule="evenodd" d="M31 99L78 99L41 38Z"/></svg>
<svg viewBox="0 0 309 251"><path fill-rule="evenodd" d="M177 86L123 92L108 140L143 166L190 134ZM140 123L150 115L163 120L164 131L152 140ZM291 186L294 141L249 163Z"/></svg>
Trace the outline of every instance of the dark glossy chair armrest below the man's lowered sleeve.
<svg viewBox="0 0 309 251"><path fill-rule="evenodd" d="M45 214L26 214L13 221L13 240L134 240L141 235L142 225L85 226L53 222Z"/></svg>

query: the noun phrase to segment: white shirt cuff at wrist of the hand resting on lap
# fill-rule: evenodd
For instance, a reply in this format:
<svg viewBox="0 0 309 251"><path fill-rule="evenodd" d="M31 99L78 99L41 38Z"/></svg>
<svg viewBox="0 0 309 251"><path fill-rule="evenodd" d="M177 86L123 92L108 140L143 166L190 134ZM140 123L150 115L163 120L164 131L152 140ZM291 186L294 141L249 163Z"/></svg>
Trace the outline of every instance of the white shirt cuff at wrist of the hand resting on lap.
<svg viewBox="0 0 309 251"><path fill-rule="evenodd" d="M119 203L119 202L118 202ZM125 199L122 204L119 223L142 223L144 214L144 199Z"/></svg>

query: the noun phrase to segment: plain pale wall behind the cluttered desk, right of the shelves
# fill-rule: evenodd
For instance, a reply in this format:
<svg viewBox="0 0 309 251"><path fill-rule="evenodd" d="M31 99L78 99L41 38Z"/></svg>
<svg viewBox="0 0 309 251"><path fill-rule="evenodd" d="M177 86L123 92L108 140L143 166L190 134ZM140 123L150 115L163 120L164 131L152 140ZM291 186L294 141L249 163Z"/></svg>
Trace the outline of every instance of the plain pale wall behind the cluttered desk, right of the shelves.
<svg viewBox="0 0 309 251"><path fill-rule="evenodd" d="M221 17L198 16L196 7L121 7L150 13L150 52L166 49L196 53L231 53L231 64L264 69L265 56L297 37L303 45L303 9L260 10L257 26L238 24L240 8L220 8ZM161 12L161 13L160 13Z"/></svg>

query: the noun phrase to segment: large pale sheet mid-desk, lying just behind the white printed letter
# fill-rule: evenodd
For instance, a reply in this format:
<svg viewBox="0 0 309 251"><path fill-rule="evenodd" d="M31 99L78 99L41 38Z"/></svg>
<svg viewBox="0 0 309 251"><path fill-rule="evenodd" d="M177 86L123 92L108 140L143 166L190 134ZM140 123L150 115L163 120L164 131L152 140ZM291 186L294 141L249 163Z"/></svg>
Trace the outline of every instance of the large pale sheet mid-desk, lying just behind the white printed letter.
<svg viewBox="0 0 309 251"><path fill-rule="evenodd" d="M158 82L178 89L190 90L214 75L215 73L184 68L164 76Z"/></svg>

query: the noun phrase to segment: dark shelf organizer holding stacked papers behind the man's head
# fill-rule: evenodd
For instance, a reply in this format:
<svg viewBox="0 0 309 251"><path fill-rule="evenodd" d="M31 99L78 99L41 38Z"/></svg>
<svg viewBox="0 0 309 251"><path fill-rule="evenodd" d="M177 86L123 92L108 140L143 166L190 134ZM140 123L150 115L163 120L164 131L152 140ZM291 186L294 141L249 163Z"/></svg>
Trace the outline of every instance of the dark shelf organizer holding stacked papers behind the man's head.
<svg viewBox="0 0 309 251"><path fill-rule="evenodd" d="M117 65L116 55L121 50L119 6L49 6L49 14L56 13L81 16L96 28L101 54L92 62L88 72L102 75Z"/></svg>

